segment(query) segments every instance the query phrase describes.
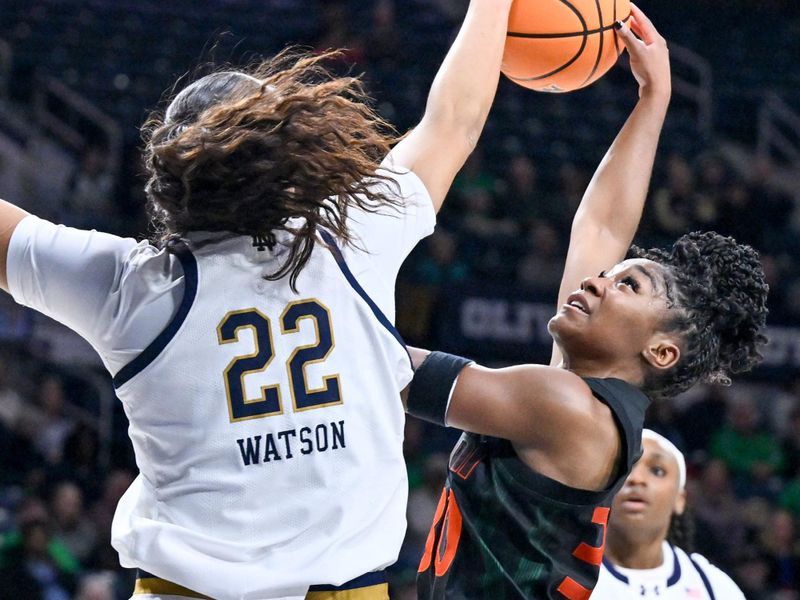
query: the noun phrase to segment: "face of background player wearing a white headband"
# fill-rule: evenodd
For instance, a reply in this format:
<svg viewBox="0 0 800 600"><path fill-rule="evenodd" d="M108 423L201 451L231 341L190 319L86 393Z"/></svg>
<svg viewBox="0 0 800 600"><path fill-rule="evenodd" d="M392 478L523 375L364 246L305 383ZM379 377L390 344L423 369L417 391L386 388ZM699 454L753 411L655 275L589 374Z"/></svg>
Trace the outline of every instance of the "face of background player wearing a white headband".
<svg viewBox="0 0 800 600"><path fill-rule="evenodd" d="M609 527L666 532L672 514L684 509L678 463L657 441L646 439L642 445L642 458L614 497Z"/></svg>

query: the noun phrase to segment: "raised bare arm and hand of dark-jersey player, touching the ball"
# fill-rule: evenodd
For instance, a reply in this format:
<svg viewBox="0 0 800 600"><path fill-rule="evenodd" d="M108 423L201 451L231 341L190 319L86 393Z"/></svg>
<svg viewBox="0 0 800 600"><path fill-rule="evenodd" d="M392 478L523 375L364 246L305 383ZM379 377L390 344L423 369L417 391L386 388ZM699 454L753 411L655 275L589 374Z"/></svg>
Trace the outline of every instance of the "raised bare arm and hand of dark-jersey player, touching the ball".
<svg viewBox="0 0 800 600"><path fill-rule="evenodd" d="M667 43L644 13L631 4L630 28L623 25L617 33L630 54L639 101L578 207L557 306L566 302L582 279L608 269L627 253L642 216L671 95ZM561 359L558 346L553 345L550 364L559 364Z"/></svg>

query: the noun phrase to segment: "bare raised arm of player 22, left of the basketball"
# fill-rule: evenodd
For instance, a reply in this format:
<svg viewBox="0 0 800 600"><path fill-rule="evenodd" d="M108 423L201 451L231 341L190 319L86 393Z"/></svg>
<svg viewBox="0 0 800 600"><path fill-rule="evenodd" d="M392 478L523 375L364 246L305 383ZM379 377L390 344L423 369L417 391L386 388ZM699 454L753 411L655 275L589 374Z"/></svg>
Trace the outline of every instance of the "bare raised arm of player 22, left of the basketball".
<svg viewBox="0 0 800 600"><path fill-rule="evenodd" d="M433 81L425 115L387 162L422 179L438 211L475 148L500 77L511 0L472 0Z"/></svg>

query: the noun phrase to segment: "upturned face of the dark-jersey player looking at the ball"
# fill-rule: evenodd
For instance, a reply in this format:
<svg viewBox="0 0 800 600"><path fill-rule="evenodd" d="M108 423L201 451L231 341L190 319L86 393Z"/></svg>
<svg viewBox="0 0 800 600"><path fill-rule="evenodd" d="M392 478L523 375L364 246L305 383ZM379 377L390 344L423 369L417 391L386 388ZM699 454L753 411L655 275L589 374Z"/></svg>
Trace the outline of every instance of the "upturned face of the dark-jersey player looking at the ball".
<svg viewBox="0 0 800 600"><path fill-rule="evenodd" d="M666 271L651 260L626 260L581 282L549 323L568 359L636 359L667 314Z"/></svg>

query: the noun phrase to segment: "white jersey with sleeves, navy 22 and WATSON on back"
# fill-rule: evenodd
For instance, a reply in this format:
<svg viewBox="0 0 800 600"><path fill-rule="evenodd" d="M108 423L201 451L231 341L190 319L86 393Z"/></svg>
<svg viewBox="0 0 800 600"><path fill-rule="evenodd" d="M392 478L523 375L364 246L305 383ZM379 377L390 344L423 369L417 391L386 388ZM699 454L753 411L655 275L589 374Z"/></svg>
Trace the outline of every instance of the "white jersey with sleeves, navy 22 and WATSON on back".
<svg viewBox="0 0 800 600"><path fill-rule="evenodd" d="M285 258L280 238L193 235L166 252L18 226L12 294L93 344L130 420L140 474L112 526L123 566L262 599L396 560L412 370L394 279L435 215L413 173L395 179L404 208L354 211L357 247L319 231L297 293L263 278Z"/></svg>

